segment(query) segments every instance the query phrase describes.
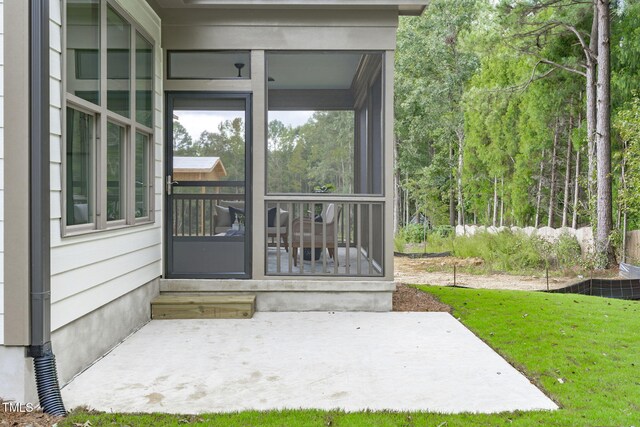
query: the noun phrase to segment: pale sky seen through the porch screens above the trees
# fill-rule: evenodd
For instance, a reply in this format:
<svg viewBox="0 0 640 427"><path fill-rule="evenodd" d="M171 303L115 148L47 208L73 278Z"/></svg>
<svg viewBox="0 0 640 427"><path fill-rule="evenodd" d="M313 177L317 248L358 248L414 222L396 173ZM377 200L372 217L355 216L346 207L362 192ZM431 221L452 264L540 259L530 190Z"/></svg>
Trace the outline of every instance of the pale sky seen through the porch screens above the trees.
<svg viewBox="0 0 640 427"><path fill-rule="evenodd" d="M270 111L269 121L280 120L285 126L293 127L305 124L313 111ZM218 130L220 123L225 120L233 120L236 117L242 117L244 111L190 111L180 110L174 111L174 115L178 121L185 127L193 140L200 138L200 134L208 130L215 132Z"/></svg>

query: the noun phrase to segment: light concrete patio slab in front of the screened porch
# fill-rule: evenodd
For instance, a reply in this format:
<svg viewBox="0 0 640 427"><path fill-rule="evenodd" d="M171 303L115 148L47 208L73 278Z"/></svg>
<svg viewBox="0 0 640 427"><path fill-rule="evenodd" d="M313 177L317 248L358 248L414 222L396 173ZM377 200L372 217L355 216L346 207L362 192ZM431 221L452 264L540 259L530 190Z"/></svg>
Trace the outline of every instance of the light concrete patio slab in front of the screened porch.
<svg viewBox="0 0 640 427"><path fill-rule="evenodd" d="M154 320L62 395L69 408L116 412L557 408L446 313Z"/></svg>

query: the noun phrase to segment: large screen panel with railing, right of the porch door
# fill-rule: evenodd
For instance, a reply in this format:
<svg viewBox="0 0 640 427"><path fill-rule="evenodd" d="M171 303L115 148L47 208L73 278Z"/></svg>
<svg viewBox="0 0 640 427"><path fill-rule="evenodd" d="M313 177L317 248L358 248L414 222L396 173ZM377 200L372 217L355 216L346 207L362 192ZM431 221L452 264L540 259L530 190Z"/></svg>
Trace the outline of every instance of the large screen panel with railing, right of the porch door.
<svg viewBox="0 0 640 427"><path fill-rule="evenodd" d="M383 57L267 53L265 274L384 275Z"/></svg>

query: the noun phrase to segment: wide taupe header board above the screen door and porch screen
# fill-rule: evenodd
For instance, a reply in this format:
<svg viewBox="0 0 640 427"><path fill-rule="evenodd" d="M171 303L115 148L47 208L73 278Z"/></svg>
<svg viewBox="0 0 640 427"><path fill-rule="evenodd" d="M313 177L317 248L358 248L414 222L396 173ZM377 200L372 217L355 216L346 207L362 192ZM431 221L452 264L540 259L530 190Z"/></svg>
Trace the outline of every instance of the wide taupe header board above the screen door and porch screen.
<svg viewBox="0 0 640 427"><path fill-rule="evenodd" d="M393 50L397 10L172 10L165 49Z"/></svg>

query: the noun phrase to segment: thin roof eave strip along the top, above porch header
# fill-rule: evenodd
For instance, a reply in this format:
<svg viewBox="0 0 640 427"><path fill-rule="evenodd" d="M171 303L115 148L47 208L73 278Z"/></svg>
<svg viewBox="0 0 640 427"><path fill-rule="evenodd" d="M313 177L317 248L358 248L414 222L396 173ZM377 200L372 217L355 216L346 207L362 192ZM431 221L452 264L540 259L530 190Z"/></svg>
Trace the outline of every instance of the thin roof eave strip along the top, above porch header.
<svg viewBox="0 0 640 427"><path fill-rule="evenodd" d="M147 0L160 9L190 8L397 8L401 15L419 15L428 0Z"/></svg>

